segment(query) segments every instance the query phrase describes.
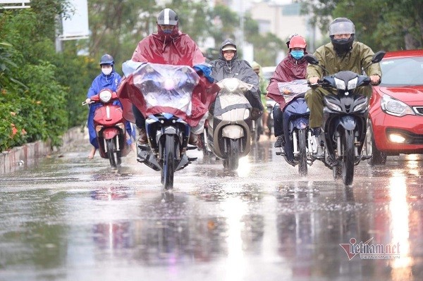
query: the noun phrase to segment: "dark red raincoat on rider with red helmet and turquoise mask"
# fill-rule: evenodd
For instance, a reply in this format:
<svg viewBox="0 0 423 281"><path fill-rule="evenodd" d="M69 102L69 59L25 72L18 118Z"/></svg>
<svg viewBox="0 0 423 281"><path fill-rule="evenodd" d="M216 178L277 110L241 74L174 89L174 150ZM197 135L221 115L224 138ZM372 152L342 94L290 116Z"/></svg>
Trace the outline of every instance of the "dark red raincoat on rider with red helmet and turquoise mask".
<svg viewBox="0 0 423 281"><path fill-rule="evenodd" d="M305 52L307 54L307 52ZM270 78L267 86L267 94L270 99L276 101L281 110L285 107L285 98L279 92L278 82L291 82L293 80L305 79L307 61L304 58L295 60L290 54L276 67L274 75Z"/></svg>

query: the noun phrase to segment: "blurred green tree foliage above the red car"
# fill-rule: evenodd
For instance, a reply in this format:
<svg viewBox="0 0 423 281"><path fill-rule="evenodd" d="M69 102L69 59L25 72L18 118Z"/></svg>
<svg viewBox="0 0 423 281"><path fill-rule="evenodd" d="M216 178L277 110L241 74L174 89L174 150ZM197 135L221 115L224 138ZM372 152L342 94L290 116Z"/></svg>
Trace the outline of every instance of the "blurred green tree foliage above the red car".
<svg viewBox="0 0 423 281"><path fill-rule="evenodd" d="M326 33L331 18L350 18L357 40L374 50L423 48L423 5L421 0L318 0L302 2L302 13Z"/></svg>

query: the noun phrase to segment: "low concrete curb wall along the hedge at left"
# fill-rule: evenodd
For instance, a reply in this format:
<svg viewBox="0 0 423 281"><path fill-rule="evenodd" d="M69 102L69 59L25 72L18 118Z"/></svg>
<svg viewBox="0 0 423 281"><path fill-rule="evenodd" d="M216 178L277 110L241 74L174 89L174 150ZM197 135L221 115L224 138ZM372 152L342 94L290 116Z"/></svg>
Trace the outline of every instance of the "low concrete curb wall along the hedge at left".
<svg viewBox="0 0 423 281"><path fill-rule="evenodd" d="M62 136L63 146L78 142L85 138L86 132L81 127L73 127ZM52 149L49 142L32 142L23 146L13 147L10 151L0 154L0 175L11 173L36 163L36 160L47 156L57 148Z"/></svg>

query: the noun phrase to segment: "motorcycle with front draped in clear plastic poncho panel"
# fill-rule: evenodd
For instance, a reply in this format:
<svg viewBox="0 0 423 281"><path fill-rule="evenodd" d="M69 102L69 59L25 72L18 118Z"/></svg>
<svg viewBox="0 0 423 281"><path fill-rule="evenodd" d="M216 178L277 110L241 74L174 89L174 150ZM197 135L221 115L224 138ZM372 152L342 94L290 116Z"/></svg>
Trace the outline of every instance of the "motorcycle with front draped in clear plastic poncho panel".
<svg viewBox="0 0 423 281"><path fill-rule="evenodd" d="M118 90L119 96L128 92L129 99L147 116L148 144L138 144L137 161L161 171L164 189L171 189L174 173L197 159L188 157L186 151L196 149L196 146L188 146L188 120L194 107L192 92L200 77L186 65L157 63L124 63L123 72L126 77ZM123 105L125 109L125 101Z"/></svg>

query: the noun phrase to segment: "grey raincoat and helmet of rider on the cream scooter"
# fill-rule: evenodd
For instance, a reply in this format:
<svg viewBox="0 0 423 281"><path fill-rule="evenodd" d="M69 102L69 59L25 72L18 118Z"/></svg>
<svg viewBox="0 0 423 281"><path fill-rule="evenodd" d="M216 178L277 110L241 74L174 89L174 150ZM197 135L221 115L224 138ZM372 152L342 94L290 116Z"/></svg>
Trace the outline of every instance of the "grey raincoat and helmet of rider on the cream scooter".
<svg viewBox="0 0 423 281"><path fill-rule="evenodd" d="M245 93L245 97L250 101L252 108L263 111L264 107L260 98L259 77L254 70L252 70L250 63L238 59L238 52L235 52L235 56L233 56L231 61L226 61L223 57L222 49L223 46L227 44L231 44L236 48L235 42L231 39L226 39L222 42L219 58L210 62L212 65L212 74L210 76L212 76L216 82L228 77L235 77L245 83L253 85L252 89Z"/></svg>

